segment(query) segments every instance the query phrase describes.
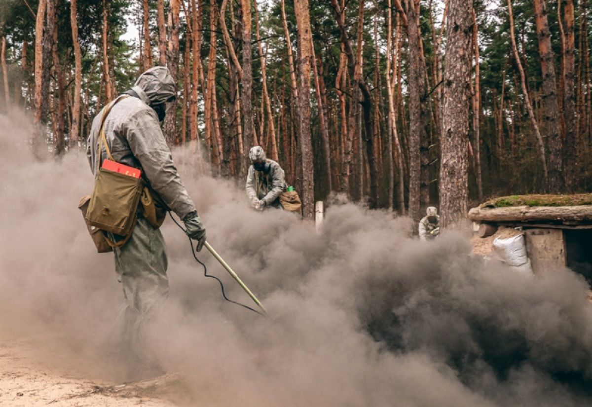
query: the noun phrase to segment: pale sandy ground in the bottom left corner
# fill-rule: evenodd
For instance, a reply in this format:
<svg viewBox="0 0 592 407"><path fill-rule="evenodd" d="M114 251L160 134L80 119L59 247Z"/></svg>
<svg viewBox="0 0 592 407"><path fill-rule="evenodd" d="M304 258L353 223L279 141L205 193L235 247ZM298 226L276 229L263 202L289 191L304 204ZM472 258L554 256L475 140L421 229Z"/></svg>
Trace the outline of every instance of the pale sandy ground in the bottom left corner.
<svg viewBox="0 0 592 407"><path fill-rule="evenodd" d="M59 365L40 361L34 341L0 341L0 406L176 406L152 398L157 389L175 380L173 375L128 384L105 383L79 379L84 376Z"/></svg>

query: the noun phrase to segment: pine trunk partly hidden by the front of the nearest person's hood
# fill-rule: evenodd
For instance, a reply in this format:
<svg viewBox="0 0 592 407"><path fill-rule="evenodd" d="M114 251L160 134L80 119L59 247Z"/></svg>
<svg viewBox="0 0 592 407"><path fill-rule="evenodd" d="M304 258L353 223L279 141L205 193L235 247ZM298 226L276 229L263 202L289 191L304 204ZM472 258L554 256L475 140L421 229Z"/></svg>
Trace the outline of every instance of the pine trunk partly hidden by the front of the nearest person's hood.
<svg viewBox="0 0 592 407"><path fill-rule="evenodd" d="M169 68L170 76L175 83L178 83L179 74L179 12L181 11L180 0L170 0L170 12L168 18L168 53L166 63ZM166 104L166 116L164 133L169 146L175 146L177 140L177 102L168 102Z"/></svg>

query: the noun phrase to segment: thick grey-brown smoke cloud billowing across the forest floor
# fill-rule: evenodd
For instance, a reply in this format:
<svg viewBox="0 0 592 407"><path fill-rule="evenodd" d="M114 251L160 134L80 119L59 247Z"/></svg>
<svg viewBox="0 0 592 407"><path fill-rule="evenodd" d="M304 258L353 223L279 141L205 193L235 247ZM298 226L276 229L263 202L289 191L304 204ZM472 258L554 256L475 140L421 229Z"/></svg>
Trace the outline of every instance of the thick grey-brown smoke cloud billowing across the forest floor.
<svg viewBox="0 0 592 407"><path fill-rule="evenodd" d="M83 151L36 160L33 129L0 115L0 340L118 380L108 355L123 293L76 208L92 189ZM233 182L175 152L208 241L274 315L223 301L168 219L170 296L149 353L183 377L182 405L580 406L592 401L588 286L569 270L526 277L471 255L466 237L407 236L410 221L352 204L320 234L259 213ZM228 295L249 298L208 253Z"/></svg>

